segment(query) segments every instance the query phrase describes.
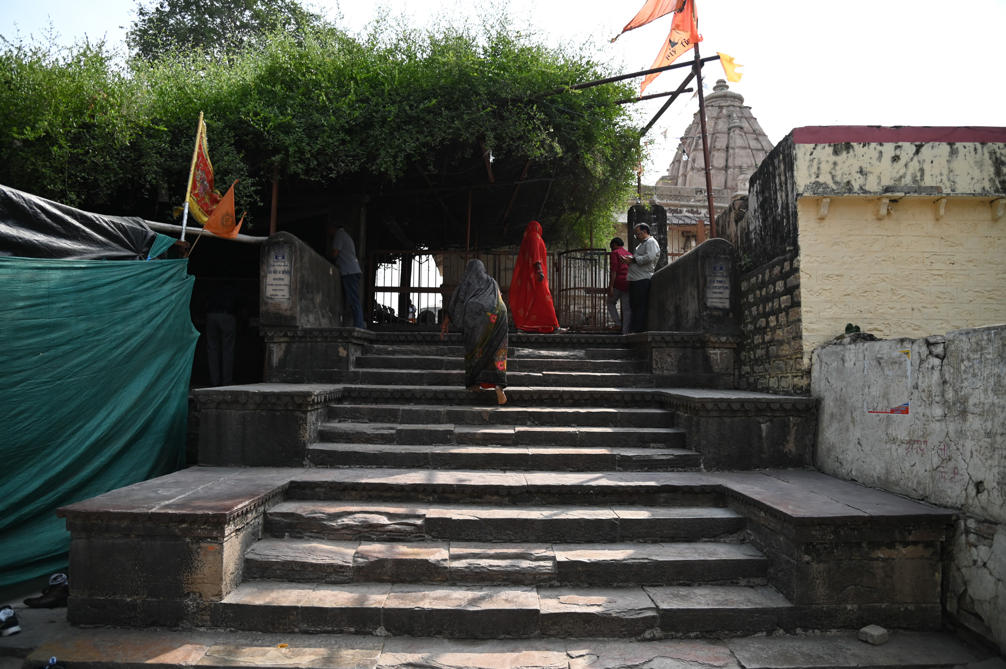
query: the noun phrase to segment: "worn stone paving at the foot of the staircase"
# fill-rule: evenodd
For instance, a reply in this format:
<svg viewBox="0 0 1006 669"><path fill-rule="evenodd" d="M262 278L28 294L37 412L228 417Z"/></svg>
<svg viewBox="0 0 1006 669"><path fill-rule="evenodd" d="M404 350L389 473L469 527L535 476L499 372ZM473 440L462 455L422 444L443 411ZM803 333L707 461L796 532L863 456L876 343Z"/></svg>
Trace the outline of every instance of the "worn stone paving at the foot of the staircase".
<svg viewBox="0 0 1006 669"><path fill-rule="evenodd" d="M53 655L68 669L998 669L1003 664L935 633L894 632L886 644L870 646L851 635L475 640L67 626L37 642L26 661L4 658L11 662L2 666L20 669L23 662L40 669Z"/></svg>

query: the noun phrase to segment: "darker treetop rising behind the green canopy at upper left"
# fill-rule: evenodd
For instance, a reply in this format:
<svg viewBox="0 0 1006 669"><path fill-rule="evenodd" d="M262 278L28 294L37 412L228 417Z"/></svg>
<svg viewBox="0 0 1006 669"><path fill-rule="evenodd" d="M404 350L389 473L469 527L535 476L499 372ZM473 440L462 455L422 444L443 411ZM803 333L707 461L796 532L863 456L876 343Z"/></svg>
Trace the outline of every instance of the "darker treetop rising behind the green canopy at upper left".
<svg viewBox="0 0 1006 669"><path fill-rule="evenodd" d="M233 53L274 30L303 34L322 21L297 0L155 0L136 11L126 41L148 60L176 48Z"/></svg>

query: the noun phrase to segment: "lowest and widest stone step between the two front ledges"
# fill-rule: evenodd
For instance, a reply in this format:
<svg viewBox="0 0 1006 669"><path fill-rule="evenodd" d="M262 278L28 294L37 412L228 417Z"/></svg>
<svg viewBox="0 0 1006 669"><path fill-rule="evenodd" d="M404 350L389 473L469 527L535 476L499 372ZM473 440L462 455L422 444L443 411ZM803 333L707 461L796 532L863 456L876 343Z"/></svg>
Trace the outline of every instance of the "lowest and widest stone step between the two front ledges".
<svg viewBox="0 0 1006 669"><path fill-rule="evenodd" d="M640 637L774 631L792 605L770 587L533 587L246 582L213 627L450 638ZM426 666L426 665L424 665ZM438 665L439 666L439 665Z"/></svg>

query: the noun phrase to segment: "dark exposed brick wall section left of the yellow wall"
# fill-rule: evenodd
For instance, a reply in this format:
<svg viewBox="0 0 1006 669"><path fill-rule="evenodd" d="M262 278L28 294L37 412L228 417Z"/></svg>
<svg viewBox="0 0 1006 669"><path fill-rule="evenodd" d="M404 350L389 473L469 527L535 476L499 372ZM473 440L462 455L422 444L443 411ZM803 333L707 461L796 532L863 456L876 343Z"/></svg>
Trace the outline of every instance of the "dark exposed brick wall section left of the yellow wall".
<svg viewBox="0 0 1006 669"><path fill-rule="evenodd" d="M797 251L741 274L740 306L740 388L808 394L810 367L803 355Z"/></svg>

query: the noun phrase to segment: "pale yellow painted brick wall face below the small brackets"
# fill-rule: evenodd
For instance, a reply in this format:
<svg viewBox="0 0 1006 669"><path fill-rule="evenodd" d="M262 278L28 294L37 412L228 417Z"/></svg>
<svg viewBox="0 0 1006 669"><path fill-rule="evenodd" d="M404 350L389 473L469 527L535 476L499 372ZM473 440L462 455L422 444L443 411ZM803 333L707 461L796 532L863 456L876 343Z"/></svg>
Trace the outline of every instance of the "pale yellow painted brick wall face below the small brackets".
<svg viewBox="0 0 1006 669"><path fill-rule="evenodd" d="M990 198L905 197L877 218L876 197L798 202L805 361L852 322L879 338L1006 322L1006 217Z"/></svg>

